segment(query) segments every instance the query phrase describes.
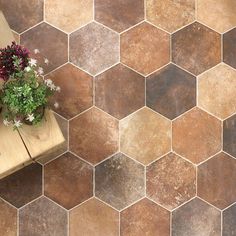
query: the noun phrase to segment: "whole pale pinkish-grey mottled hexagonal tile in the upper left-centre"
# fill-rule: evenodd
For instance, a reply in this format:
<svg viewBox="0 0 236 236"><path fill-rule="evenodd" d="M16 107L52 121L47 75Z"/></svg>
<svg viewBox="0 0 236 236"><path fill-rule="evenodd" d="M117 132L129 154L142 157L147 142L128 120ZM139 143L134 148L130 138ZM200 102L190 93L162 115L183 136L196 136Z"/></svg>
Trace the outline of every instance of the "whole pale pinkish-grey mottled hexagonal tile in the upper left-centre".
<svg viewBox="0 0 236 236"><path fill-rule="evenodd" d="M119 35L93 22L70 35L70 61L96 75L119 61Z"/></svg>

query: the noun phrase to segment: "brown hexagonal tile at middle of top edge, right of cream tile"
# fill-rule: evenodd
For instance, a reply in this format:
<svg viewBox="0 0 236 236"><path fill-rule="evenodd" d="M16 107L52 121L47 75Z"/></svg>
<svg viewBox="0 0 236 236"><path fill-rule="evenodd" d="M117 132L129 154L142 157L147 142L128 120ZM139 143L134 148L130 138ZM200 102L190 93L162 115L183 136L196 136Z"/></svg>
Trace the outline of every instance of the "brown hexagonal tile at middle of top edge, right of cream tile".
<svg viewBox="0 0 236 236"><path fill-rule="evenodd" d="M95 20L121 32L144 19L143 0L95 0Z"/></svg>

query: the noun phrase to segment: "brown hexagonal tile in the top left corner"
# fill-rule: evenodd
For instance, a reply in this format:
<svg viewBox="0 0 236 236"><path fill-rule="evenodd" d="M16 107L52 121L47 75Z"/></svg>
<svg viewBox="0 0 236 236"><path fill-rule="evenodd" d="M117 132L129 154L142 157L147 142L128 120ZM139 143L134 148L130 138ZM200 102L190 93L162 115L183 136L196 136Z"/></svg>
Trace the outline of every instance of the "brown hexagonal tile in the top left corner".
<svg viewBox="0 0 236 236"><path fill-rule="evenodd" d="M0 8L11 29L21 33L43 21L43 0L0 0ZM14 6L14 7L13 7Z"/></svg>

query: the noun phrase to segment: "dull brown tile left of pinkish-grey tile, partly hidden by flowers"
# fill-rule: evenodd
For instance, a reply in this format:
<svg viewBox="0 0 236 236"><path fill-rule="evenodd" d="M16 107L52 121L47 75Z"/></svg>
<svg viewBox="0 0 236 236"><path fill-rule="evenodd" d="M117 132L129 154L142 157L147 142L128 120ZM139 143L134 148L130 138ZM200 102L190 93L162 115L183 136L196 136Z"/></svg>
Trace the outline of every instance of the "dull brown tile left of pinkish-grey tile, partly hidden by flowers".
<svg viewBox="0 0 236 236"><path fill-rule="evenodd" d="M68 60L68 36L58 29L42 23L21 35L21 44L31 52L31 57L35 57L39 65L48 73ZM39 49L40 54L34 55L34 49ZM45 65L44 58L49 60Z"/></svg>

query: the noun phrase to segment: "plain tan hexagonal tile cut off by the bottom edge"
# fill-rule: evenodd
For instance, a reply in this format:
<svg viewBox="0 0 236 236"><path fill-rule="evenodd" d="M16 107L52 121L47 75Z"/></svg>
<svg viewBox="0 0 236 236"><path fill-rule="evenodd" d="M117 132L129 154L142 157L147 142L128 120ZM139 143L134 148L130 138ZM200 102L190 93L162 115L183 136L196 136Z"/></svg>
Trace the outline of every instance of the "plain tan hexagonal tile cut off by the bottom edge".
<svg viewBox="0 0 236 236"><path fill-rule="evenodd" d="M118 236L119 213L97 199L70 212L70 236Z"/></svg>

